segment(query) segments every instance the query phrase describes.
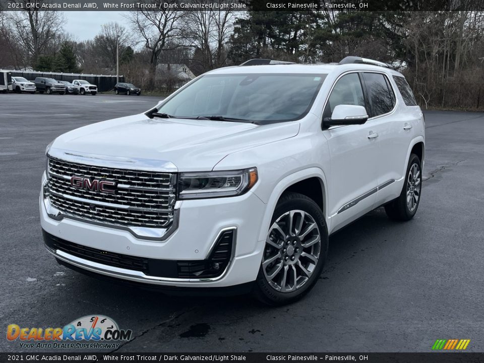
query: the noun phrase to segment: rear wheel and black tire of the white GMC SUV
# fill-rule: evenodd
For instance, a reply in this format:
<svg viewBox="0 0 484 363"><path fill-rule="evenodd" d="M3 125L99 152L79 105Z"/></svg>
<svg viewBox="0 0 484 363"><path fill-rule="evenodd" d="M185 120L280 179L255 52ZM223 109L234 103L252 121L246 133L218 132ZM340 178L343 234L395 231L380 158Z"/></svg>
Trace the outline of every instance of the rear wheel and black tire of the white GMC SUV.
<svg viewBox="0 0 484 363"><path fill-rule="evenodd" d="M415 215L422 191L421 170L420 159L417 155L411 154L400 196L385 205L385 212L390 219L407 221Z"/></svg>

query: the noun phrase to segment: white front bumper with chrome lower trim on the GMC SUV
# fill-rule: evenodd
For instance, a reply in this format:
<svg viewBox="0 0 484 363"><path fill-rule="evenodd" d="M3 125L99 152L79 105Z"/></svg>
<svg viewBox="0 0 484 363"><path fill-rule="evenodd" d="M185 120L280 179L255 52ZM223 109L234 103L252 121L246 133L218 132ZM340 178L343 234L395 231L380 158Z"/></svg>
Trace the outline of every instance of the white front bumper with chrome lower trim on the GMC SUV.
<svg viewBox="0 0 484 363"><path fill-rule="evenodd" d="M45 175L43 179L45 181ZM258 240L265 204L257 196L249 192L238 197L186 200L178 202L175 208L178 210L176 230L171 231L166 239L154 241L113 225L93 224L69 216L53 219L47 214L42 193L40 196L41 225L45 233L108 254L140 257L155 262L203 261L210 256L221 231L236 230L230 262L219 276L213 278L152 276L56 250L46 240L47 250L51 254L76 268L131 282L173 287L224 287L256 279L265 244L265 241Z"/></svg>

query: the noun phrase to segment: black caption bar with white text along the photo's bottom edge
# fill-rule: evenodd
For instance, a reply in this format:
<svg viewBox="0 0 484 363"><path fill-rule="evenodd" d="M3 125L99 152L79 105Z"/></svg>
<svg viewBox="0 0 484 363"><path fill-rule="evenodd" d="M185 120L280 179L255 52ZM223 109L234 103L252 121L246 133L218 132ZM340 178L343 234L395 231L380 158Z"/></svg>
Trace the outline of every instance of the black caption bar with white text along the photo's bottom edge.
<svg viewBox="0 0 484 363"><path fill-rule="evenodd" d="M24 361L468 363L484 362L484 353L0 353L2 363Z"/></svg>

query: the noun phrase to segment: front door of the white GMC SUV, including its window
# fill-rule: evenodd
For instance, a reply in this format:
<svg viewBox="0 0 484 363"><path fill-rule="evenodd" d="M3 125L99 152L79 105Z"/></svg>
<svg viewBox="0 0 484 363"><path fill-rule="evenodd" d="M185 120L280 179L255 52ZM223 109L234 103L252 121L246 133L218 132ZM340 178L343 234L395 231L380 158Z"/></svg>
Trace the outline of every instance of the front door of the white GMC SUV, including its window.
<svg viewBox="0 0 484 363"><path fill-rule="evenodd" d="M338 78L325 105L323 117L330 117L339 104L365 106L360 75L350 72ZM336 230L372 210L377 192L378 135L373 123L333 126L323 131L327 139L329 172L328 208L331 229Z"/></svg>

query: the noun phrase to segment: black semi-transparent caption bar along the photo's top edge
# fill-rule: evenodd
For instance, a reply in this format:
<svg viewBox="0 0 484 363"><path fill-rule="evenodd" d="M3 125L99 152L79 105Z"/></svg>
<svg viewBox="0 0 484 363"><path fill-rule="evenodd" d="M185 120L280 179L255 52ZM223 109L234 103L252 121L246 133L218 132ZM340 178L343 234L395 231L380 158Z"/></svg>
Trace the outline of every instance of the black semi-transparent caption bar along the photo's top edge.
<svg viewBox="0 0 484 363"><path fill-rule="evenodd" d="M4 11L484 11L484 0L0 0Z"/></svg>

